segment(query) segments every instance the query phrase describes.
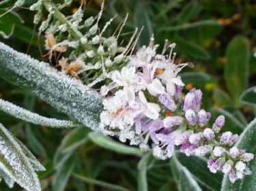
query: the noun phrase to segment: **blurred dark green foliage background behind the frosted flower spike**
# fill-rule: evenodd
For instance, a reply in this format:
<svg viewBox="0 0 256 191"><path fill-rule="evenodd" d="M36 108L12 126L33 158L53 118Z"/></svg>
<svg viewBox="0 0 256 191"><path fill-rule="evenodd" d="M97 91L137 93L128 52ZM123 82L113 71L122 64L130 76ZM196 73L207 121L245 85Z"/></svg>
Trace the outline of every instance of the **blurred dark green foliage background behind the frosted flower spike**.
<svg viewBox="0 0 256 191"><path fill-rule="evenodd" d="M12 3L0 5L0 14L10 9ZM15 14L0 18L0 31L10 34L10 38L0 39L15 50L47 61L44 35L38 35L38 26L33 24L35 13L27 9L32 3L26 1L23 7L14 9ZM85 2L73 1L64 13L72 14L81 3ZM86 3L85 18L96 16L102 1ZM241 133L255 118L255 107L244 104L240 94L256 86L256 57L253 56L256 52L256 1L109 0L105 3L100 20L102 27L117 14L106 31L109 35L126 13L129 14L122 35L124 44L130 38L127 33L142 26L138 48L147 45L153 33L156 44L160 44L159 52L165 39L176 44L177 62L189 61L195 65L181 73L187 84L185 92L193 87L200 88L203 108L212 112L212 119L219 114L226 116L225 131ZM68 118L31 92L3 80L0 81L0 98L42 116ZM182 154L165 161L150 155L141 158L102 147L84 126L73 130L52 129L22 122L3 113L0 113L0 122L46 167L46 171L38 173L43 190L139 190L142 189L140 177L143 173L147 173L148 190L179 190L184 179L177 175L177 163L189 169L203 190L221 188L223 175L209 173L203 158L186 158ZM118 144L116 141L114 143ZM10 189L1 181L0 190L21 188L15 185Z"/></svg>

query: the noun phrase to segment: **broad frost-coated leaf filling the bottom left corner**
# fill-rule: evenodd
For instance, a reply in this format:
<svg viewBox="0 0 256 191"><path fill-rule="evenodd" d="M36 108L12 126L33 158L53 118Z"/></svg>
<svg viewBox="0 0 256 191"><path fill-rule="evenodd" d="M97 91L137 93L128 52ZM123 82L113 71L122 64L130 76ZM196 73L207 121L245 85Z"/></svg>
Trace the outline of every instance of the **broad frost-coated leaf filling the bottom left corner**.
<svg viewBox="0 0 256 191"><path fill-rule="evenodd" d="M28 191L40 191L40 181L20 145L0 124L0 169Z"/></svg>

